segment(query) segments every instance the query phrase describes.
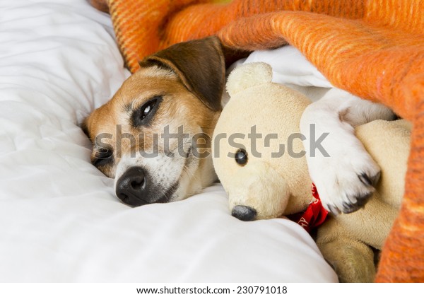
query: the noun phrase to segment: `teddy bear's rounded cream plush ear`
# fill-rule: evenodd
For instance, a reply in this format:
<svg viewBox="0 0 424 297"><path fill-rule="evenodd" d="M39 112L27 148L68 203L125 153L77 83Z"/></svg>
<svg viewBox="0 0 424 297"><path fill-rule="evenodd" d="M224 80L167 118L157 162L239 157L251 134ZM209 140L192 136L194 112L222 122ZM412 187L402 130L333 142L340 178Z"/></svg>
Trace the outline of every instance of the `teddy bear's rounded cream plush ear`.
<svg viewBox="0 0 424 297"><path fill-rule="evenodd" d="M226 88L232 96L252 86L271 83L271 81L272 68L269 64L262 62L248 63L237 66L230 73Z"/></svg>

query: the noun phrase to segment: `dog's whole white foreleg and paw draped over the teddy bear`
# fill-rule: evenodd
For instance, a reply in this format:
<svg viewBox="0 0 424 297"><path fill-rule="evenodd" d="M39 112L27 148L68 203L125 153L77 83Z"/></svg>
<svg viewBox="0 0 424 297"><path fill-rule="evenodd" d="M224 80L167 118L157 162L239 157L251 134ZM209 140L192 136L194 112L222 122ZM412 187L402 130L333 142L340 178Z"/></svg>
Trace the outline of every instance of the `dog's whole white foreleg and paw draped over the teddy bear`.
<svg viewBox="0 0 424 297"><path fill-rule="evenodd" d="M375 192L380 168L356 138L353 127L390 113L382 105L337 88L303 113L300 131L305 135L310 176L323 206L331 213L357 211Z"/></svg>

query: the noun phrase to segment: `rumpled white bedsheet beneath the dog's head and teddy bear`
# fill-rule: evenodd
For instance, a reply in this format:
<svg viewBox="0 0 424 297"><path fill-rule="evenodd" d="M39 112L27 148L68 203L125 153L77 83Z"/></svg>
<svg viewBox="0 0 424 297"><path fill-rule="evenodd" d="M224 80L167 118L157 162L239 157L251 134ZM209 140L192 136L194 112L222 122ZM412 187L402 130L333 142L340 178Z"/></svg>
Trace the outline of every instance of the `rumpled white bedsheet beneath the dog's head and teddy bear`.
<svg viewBox="0 0 424 297"><path fill-rule="evenodd" d="M130 208L78 123L128 71L85 0L0 1L0 281L336 281L286 219L230 216L220 185Z"/></svg>

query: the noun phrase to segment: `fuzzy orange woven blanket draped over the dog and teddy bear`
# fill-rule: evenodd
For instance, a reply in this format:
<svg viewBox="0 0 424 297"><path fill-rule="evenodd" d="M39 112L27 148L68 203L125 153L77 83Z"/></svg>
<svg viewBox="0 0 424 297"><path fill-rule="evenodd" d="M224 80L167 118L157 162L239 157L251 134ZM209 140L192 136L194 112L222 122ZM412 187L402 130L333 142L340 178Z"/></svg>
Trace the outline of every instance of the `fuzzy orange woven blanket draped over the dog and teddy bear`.
<svg viewBox="0 0 424 297"><path fill-rule="evenodd" d="M288 42L334 86L411 120L404 202L377 281L424 281L423 0L107 1L131 71L148 54L208 35L242 50Z"/></svg>

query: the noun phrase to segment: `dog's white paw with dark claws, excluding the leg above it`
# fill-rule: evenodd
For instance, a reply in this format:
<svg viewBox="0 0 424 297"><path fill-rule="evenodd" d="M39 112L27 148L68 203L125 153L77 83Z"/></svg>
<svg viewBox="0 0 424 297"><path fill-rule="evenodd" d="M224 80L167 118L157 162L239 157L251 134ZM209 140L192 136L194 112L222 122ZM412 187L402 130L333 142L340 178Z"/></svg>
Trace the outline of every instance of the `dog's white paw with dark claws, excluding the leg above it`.
<svg viewBox="0 0 424 297"><path fill-rule="evenodd" d="M337 215L363 207L375 192L380 168L363 147L310 158L310 174L325 209Z"/></svg>

